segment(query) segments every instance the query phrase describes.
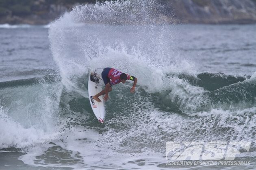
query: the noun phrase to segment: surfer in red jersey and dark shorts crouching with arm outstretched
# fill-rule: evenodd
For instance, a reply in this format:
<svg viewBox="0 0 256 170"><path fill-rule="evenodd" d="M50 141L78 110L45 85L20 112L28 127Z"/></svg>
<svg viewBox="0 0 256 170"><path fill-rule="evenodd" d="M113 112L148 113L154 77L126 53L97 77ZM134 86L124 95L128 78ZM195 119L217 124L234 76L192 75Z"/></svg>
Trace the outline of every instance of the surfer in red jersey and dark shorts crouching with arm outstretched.
<svg viewBox="0 0 256 170"><path fill-rule="evenodd" d="M134 76L130 76L128 74L122 73L121 71L115 69L115 68L104 68L102 73L101 73L102 79L104 81L105 84L105 89L100 91L100 93L96 94L95 96L93 96L93 99L101 102L101 100L99 99L99 96L102 96L105 94L104 96L104 101L108 100L108 92L112 90L112 85L116 85L118 83L125 83L126 80L131 80L134 81L132 88L130 89L131 93L135 92L135 86L137 84L137 78Z"/></svg>

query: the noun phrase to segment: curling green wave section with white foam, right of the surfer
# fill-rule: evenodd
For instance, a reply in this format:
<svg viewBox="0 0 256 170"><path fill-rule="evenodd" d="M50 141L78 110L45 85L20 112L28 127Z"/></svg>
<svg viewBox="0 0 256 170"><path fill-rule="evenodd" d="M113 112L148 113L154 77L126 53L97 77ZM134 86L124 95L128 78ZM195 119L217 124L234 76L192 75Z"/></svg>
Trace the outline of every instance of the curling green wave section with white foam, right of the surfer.
<svg viewBox="0 0 256 170"><path fill-rule="evenodd" d="M193 115L212 109L239 110L256 106L254 75L233 76L223 73L168 73L167 88L156 93L161 110ZM169 81L168 81L169 80Z"/></svg>

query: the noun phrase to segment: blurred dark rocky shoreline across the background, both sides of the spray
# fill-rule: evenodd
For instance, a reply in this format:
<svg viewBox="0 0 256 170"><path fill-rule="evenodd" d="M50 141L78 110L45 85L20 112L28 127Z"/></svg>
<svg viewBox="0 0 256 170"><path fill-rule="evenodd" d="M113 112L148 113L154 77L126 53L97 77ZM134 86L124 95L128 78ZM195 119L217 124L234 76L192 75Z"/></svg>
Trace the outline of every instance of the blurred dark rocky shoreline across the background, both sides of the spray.
<svg viewBox="0 0 256 170"><path fill-rule="evenodd" d="M72 7L79 4L78 1L73 0L73 4L50 4L45 0L35 0L30 6L19 4L19 8L0 6L0 24L48 25L65 12L71 11ZM89 4L88 2L83 4ZM256 0L243 0L236 3L233 0L225 3L221 0L160 0L159 2L165 8L161 16L166 23L170 24L256 23ZM93 5L93 3L90 4Z"/></svg>

